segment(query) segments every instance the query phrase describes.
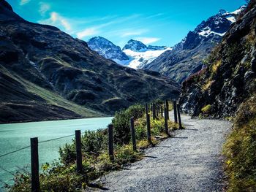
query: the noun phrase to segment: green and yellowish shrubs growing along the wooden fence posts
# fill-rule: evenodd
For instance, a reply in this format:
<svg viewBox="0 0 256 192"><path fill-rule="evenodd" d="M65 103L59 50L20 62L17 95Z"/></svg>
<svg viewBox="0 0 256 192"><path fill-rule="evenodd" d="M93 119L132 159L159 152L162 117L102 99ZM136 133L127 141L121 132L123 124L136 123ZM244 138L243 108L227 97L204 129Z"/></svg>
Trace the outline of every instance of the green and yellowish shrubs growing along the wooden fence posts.
<svg viewBox="0 0 256 192"><path fill-rule="evenodd" d="M138 150L132 150L129 131L129 118L135 118L135 131ZM83 172L76 172L75 141L61 147L60 162L45 164L43 172L39 175L42 191L83 191L92 186L91 180L112 170L121 169L125 164L143 158L143 149L157 144L155 136L167 137L164 118L151 118L151 140L146 137L146 114L144 107L135 104L127 110L117 112L113 118L115 160L110 161L108 155L108 130L86 131L82 138ZM178 128L176 123L168 120L170 131ZM100 184L97 184L100 187ZM94 186L95 187L95 186ZM17 174L15 184L10 186L10 191L31 191L31 177L29 174Z"/></svg>

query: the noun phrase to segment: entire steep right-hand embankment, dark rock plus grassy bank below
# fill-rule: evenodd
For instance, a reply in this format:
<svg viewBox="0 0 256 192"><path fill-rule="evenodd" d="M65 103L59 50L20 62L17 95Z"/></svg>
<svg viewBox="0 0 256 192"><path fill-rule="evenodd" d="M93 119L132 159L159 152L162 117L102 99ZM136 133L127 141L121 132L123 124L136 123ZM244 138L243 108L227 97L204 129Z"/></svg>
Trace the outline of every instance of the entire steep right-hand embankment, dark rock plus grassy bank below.
<svg viewBox="0 0 256 192"><path fill-rule="evenodd" d="M207 68L183 83L180 99L184 112L233 119L223 148L228 191L256 191L255 24L253 0L211 53Z"/></svg>

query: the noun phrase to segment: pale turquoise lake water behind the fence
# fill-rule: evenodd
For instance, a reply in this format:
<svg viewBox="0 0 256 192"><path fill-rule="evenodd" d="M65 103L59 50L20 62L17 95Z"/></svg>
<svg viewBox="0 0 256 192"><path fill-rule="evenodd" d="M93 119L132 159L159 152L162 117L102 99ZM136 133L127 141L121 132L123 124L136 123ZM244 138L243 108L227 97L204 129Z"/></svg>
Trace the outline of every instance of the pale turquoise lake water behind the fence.
<svg viewBox="0 0 256 192"><path fill-rule="evenodd" d="M56 137L75 134L75 130L83 132L106 128L111 120L112 118L87 118L0 124L0 155L29 146L31 137L38 137L38 141L42 142ZM67 142L72 142L74 137L39 143L39 164L50 163L58 159L59 147ZM30 172L29 164L30 148L0 157L0 181L12 183L12 174L2 170L3 168L12 173L15 173L19 168L24 168ZM3 183L0 182L0 186L3 186ZM3 191L3 188L0 188L0 191Z"/></svg>

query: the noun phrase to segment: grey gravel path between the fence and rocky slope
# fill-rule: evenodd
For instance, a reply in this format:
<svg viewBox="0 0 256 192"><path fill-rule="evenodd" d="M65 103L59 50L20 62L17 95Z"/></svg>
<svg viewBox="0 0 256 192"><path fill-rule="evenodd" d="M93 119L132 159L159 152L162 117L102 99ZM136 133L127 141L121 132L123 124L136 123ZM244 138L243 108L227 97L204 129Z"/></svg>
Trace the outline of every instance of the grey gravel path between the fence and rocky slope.
<svg viewBox="0 0 256 192"><path fill-rule="evenodd" d="M221 150L231 123L187 115L181 120L186 129L146 150L143 160L100 178L104 187L108 191L223 191Z"/></svg>

